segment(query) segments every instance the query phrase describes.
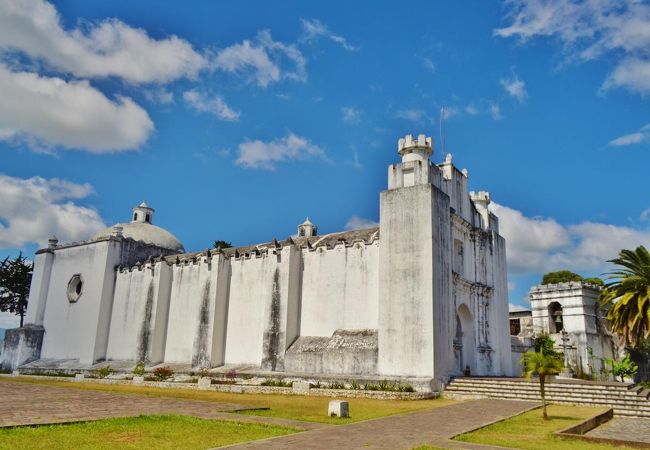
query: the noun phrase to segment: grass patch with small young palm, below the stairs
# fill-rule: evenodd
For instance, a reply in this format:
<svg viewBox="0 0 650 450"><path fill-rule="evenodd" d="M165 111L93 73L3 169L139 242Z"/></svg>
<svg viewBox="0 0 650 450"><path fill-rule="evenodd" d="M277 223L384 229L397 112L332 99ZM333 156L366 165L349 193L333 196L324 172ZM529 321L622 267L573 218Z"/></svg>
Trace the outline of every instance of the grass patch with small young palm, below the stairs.
<svg viewBox="0 0 650 450"><path fill-rule="evenodd" d="M477 444L530 450L591 450L623 448L607 444L596 444L578 439L563 439L553 435L581 420L594 416L602 409L579 406L549 405L550 420L542 418L542 409L535 409L502 422L481 428L472 433L461 434L456 440Z"/></svg>

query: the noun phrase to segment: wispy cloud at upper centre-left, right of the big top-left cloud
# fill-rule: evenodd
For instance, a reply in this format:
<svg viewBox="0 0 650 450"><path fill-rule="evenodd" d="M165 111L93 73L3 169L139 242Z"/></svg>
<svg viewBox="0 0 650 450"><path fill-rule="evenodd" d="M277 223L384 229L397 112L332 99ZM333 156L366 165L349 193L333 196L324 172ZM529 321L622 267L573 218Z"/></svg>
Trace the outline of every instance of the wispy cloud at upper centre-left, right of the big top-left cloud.
<svg viewBox="0 0 650 450"><path fill-rule="evenodd" d="M286 60L293 64L293 70L282 69ZM261 87L282 79L305 81L306 64L295 45L274 41L268 30L260 31L254 42L246 39L219 50L214 61L215 68L242 75Z"/></svg>

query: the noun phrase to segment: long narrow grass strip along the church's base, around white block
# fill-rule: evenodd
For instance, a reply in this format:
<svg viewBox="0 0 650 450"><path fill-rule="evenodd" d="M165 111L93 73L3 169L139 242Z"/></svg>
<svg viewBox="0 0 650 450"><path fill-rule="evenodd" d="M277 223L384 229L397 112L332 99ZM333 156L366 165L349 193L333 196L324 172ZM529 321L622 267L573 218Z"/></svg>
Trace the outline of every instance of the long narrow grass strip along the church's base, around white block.
<svg viewBox="0 0 650 450"><path fill-rule="evenodd" d="M269 410L247 411L247 415L282 417L285 419L304 420L308 422L344 424L377 417L390 416L410 411L435 408L456 403L452 400L376 400L353 398L350 402L350 418L339 419L327 416L329 397L309 397L302 395L270 394L231 394L226 392L194 391L184 389L155 388L148 386L111 385L99 383L75 383L66 381L33 379L27 377L0 378L0 382L23 382L45 384L76 389L90 389L106 392L141 394L154 397L174 397L192 400L236 403L244 406L270 408ZM338 397L337 397L338 398ZM343 398L343 397L340 397Z"/></svg>

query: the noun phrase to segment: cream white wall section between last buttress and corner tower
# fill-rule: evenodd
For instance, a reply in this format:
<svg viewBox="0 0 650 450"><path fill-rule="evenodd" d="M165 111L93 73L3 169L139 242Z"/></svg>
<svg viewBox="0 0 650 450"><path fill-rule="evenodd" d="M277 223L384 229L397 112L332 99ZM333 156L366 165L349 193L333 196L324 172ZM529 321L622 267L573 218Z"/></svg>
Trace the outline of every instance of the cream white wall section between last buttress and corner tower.
<svg viewBox="0 0 650 450"><path fill-rule="evenodd" d="M379 241L302 250L301 336L377 329Z"/></svg>

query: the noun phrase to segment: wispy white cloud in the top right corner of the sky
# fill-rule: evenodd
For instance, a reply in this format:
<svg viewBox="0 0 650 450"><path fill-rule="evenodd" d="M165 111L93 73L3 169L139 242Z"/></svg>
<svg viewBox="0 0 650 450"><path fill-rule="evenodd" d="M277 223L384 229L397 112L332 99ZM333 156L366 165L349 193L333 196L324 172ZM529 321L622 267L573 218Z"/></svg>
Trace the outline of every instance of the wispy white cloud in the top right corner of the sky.
<svg viewBox="0 0 650 450"><path fill-rule="evenodd" d="M616 67L603 89L650 93L650 5L638 0L506 0L510 24L494 31L527 41L554 37L568 60L609 54Z"/></svg>

